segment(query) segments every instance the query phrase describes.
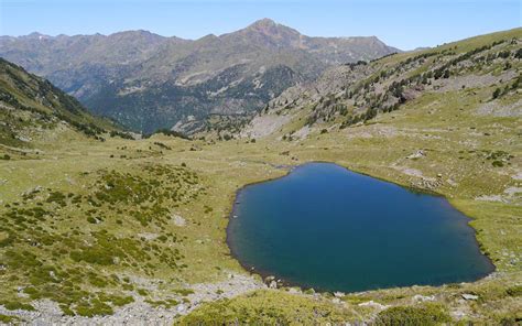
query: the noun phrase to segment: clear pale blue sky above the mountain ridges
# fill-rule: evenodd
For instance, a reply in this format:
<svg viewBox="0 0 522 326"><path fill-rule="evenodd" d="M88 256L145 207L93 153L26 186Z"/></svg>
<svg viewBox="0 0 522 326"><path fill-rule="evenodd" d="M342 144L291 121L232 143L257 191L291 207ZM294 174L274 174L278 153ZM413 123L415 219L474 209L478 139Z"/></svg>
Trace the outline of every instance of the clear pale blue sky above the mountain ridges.
<svg viewBox="0 0 522 326"><path fill-rule="evenodd" d="M522 25L522 0L0 0L0 35L148 30L197 39L271 18L312 36L411 50Z"/></svg>

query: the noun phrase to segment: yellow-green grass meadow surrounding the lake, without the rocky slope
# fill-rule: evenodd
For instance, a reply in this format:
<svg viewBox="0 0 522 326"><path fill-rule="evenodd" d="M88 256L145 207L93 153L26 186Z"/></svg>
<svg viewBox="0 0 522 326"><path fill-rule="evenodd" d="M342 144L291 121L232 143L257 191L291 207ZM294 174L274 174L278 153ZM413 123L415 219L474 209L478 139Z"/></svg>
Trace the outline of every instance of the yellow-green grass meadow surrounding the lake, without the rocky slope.
<svg viewBox="0 0 522 326"><path fill-rule="evenodd" d="M468 40L456 51L497 39L488 37ZM254 143L162 134L100 142L67 129L44 132L23 146L0 140L0 156L10 156L0 160L2 303L30 309L33 300L50 298L65 314L84 316L111 314L139 297L173 308L198 291L194 284L246 273L226 243L228 216L241 186L284 175L278 165L328 161L409 187L423 187L418 175L436 181L432 191L472 218L480 248L497 268L494 276L349 294L340 304L330 294L257 291L202 305L182 322L368 320L380 313L359 305L369 301L390 306L382 320L437 322L458 311L467 312L464 322L515 320L522 311L522 199L505 191L521 187L514 178L522 163L520 118L477 115L494 88L424 93L367 123L325 134L312 130L305 140L279 137L301 129L308 108L278 134ZM519 99L510 93L498 102ZM425 156L406 159L421 149ZM478 199L485 196L504 200ZM172 220L174 215L183 217L184 226ZM20 296L19 287L28 297ZM480 300L463 302L464 293ZM414 303L416 294L434 295L436 312Z"/></svg>

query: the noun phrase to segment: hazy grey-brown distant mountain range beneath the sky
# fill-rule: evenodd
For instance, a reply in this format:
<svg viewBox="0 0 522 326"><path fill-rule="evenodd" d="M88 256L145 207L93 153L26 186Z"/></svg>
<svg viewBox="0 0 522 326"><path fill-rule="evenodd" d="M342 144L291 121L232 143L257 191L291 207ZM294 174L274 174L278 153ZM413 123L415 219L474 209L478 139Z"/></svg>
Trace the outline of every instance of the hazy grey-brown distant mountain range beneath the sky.
<svg viewBox="0 0 522 326"><path fill-rule="evenodd" d="M1 57L145 133L213 128L211 116L251 115L328 67L393 52L374 36L309 37L269 19L195 41L146 31L0 36Z"/></svg>

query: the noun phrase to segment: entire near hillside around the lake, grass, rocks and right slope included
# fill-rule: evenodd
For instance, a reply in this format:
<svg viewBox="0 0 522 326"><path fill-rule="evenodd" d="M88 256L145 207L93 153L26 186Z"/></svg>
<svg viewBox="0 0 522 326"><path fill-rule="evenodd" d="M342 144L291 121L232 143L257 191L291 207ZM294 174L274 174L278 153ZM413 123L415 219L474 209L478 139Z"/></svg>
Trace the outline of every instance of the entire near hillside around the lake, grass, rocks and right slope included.
<svg viewBox="0 0 522 326"><path fill-rule="evenodd" d="M285 90L241 132L210 117L226 141L214 132L99 141L70 129L74 138L10 144L45 150L0 161L0 320L516 325L521 33L331 67ZM40 88L7 93L45 98L32 89ZM496 271L470 283L360 293L246 271L227 244L236 193L312 161L446 196L471 218Z"/></svg>

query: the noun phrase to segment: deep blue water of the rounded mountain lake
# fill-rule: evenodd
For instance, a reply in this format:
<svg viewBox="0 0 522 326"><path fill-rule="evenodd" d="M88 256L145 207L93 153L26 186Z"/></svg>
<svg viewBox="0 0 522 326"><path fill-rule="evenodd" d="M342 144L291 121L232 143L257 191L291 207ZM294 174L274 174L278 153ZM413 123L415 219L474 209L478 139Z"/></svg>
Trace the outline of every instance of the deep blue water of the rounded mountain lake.
<svg viewBox="0 0 522 326"><path fill-rule="evenodd" d="M246 267L323 291L475 281L493 271L441 196L309 163L238 193L228 226Z"/></svg>

